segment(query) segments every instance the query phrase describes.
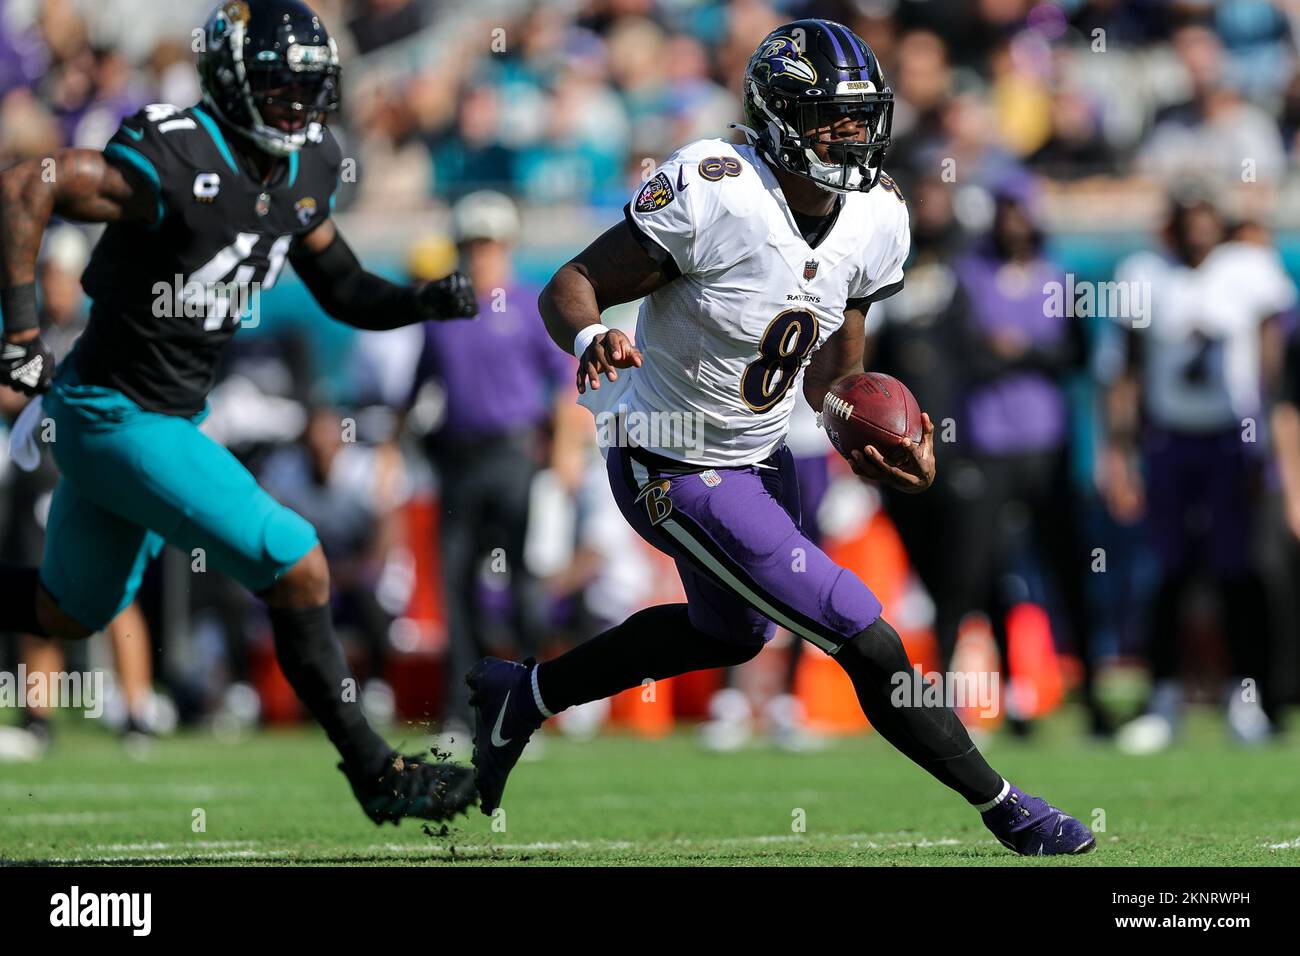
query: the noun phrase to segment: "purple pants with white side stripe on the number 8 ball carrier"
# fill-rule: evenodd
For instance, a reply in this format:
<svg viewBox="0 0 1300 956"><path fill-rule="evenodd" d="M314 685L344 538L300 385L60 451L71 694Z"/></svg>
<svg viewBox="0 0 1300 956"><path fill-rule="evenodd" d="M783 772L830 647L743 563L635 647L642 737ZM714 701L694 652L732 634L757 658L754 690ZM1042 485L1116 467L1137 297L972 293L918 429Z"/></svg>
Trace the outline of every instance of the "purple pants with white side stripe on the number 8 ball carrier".
<svg viewBox="0 0 1300 956"><path fill-rule="evenodd" d="M800 525L794 460L699 468L611 447L624 518L677 563L690 622L719 640L759 644L780 624L828 653L880 617L880 601Z"/></svg>

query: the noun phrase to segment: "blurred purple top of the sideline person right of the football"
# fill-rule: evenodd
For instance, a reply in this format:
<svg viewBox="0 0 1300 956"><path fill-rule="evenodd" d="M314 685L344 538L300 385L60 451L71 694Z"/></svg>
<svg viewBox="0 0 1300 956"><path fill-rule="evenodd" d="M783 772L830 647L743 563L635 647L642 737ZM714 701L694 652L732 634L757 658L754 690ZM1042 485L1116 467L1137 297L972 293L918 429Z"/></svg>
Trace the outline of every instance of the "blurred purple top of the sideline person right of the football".
<svg viewBox="0 0 1300 956"><path fill-rule="evenodd" d="M1053 349L1070 334L1067 316L1048 315L1044 286L1065 282L1052 263L1039 260L1018 289L998 282L1004 263L989 254L971 254L954 263L958 281L970 299L971 321L985 333L1018 332L1034 346ZM1067 408L1060 384L1032 369L971 385L965 395L966 434L980 454L1008 455L1050 451L1067 437Z"/></svg>

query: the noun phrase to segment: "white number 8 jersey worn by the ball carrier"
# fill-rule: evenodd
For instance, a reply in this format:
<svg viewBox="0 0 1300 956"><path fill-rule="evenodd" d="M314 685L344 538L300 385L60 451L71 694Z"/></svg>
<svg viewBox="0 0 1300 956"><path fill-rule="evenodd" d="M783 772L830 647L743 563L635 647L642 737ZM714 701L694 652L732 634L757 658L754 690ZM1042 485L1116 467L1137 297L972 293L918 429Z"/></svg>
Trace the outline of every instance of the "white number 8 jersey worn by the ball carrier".
<svg viewBox="0 0 1300 956"><path fill-rule="evenodd" d="M690 447L630 440L702 466L753 464L780 446L811 354L850 299L901 282L911 241L907 206L883 177L845 195L811 248L758 151L722 139L673 153L628 217L681 276L641 303L642 367L580 401L598 419L611 410L694 416L702 441Z"/></svg>

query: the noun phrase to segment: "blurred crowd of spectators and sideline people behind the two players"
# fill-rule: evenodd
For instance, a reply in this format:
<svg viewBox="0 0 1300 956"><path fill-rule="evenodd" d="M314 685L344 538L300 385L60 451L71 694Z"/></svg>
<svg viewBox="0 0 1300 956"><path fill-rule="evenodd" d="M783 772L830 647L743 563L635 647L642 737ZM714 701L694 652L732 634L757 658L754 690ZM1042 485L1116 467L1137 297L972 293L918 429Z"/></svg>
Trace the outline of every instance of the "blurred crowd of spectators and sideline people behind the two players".
<svg viewBox="0 0 1300 956"><path fill-rule="evenodd" d="M191 31L209 5L4 0L0 165L99 148L144 104L195 101ZM459 259L482 317L352 333L285 282L237 337L205 428L320 529L377 714L455 726L458 678L485 649L549 653L671 598L614 509L536 294L659 160L733 135L746 60L796 16L853 27L892 82L887 168L915 248L904 293L868 315L867 364L950 423L940 483L907 499L846 490L802 408L807 518L845 537L888 515L907 555L898 617L932 635L939 666L972 613L1014 665L1008 620L1045 607L1101 734L1117 717L1108 674L1141 665L1152 693L1122 735L1132 749L1169 743L1190 696L1226 702L1249 743L1296 698L1300 3L313 5L344 62L344 232L393 274ZM94 238L60 225L43 252L47 339L64 351ZM1045 304L1053 284L1074 303L1115 278L1150 308ZM5 468L4 557L39 558L53 480ZM292 715L256 602L190 563L169 554L114 622L118 723ZM34 639L4 646L5 669L58 666ZM800 722L789 670L770 695L777 724ZM749 719L736 700L715 701L714 723Z"/></svg>

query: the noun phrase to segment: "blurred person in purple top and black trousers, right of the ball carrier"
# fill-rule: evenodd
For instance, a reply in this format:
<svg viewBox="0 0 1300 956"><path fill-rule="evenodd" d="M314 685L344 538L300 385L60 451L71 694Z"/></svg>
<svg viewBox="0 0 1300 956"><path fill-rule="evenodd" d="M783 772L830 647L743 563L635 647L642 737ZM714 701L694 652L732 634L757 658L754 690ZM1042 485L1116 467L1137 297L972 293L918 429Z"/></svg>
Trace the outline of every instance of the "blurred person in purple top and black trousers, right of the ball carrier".
<svg viewBox="0 0 1300 956"><path fill-rule="evenodd" d="M1006 670L1006 622L1017 600L1010 580L1018 545L1027 544L1083 663L1088 730L1106 736L1109 722L1092 680L1089 555L1071 479L1065 390L1066 377L1084 362L1083 330L1072 303L1049 307L1049 285L1063 289L1065 273L1044 255L1032 182L1009 177L992 194L989 234L953 264L965 300L952 329L961 355L962 459L950 475L959 505L949 510L945 544L949 559L961 567L946 575L952 591L939 602L936 631L950 659L965 615L984 611ZM1009 676L1009 726L1023 732L1027 713L1014 693L1017 675Z"/></svg>

